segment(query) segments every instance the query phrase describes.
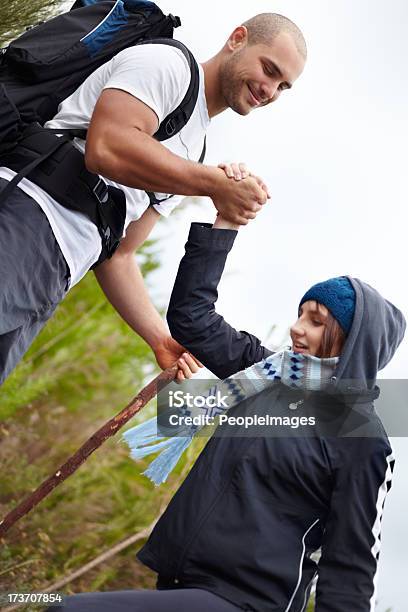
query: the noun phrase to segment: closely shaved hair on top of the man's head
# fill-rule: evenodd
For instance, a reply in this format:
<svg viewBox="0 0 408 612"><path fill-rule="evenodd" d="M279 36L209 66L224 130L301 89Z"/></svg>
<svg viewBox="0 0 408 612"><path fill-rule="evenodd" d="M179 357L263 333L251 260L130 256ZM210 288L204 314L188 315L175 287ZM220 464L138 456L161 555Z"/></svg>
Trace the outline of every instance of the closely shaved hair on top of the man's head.
<svg viewBox="0 0 408 612"><path fill-rule="evenodd" d="M261 13L245 21L243 26L248 31L249 45L270 45L281 32L292 37L300 55L306 59L306 41L300 29L293 21L278 13Z"/></svg>

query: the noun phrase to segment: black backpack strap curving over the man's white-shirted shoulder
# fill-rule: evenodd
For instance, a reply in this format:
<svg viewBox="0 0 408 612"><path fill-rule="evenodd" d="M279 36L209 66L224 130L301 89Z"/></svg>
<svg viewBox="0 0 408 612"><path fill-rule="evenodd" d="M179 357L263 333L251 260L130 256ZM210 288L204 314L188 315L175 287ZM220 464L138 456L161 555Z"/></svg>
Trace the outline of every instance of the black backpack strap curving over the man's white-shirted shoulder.
<svg viewBox="0 0 408 612"><path fill-rule="evenodd" d="M176 47L182 51L184 57L187 59L188 65L190 66L191 79L184 98L180 102L179 106L163 119L159 125L159 129L154 134L154 138L156 140L167 140L168 138L171 138L177 134L186 125L187 121L193 114L195 105L197 103L200 84L198 64L191 51L187 49L187 47L179 40L174 40L173 38L153 38L151 40L144 40L139 44L160 44Z"/></svg>

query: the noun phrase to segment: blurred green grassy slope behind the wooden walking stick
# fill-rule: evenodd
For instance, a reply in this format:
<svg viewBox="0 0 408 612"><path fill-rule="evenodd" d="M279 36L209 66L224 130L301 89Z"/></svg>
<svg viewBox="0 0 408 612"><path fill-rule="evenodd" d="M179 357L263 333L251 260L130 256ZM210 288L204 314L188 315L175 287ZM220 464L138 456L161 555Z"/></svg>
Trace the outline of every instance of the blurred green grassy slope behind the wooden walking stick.
<svg viewBox="0 0 408 612"><path fill-rule="evenodd" d="M144 246L147 279L157 267ZM0 516L56 470L157 373L153 355L107 303L92 273L59 306L0 399ZM151 416L146 407L137 421ZM132 422L131 425L135 423ZM0 592L35 591L149 525L180 480L141 476L119 436L108 440L66 482L21 519L0 546ZM202 444L197 441L197 444ZM197 450L189 451L191 457ZM134 554L142 542L65 589L153 587Z"/></svg>

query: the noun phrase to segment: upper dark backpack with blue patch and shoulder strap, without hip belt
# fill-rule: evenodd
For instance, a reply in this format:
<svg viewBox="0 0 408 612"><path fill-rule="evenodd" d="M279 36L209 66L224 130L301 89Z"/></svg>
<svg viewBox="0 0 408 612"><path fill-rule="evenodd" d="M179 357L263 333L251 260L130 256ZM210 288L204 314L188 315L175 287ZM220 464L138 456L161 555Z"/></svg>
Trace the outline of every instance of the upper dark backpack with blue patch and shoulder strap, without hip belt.
<svg viewBox="0 0 408 612"><path fill-rule="evenodd" d="M119 51L151 39L183 51L192 82L180 107L162 122L156 138L177 133L190 118L198 92L198 68L190 51L172 39L179 17L165 16L148 0L77 0L72 9L22 34L0 58L0 156L21 129L43 125L99 66Z"/></svg>

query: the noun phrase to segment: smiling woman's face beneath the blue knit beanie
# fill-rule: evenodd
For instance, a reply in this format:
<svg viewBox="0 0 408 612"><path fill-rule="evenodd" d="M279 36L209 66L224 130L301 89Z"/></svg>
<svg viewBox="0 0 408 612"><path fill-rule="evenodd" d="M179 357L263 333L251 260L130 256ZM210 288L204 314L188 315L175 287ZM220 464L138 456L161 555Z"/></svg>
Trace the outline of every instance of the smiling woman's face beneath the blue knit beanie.
<svg viewBox="0 0 408 612"><path fill-rule="evenodd" d="M328 315L329 311L323 304L314 300L304 302L299 309L298 320L290 328L292 350L296 353L319 357ZM340 350L340 344L336 342L330 356L337 356Z"/></svg>

